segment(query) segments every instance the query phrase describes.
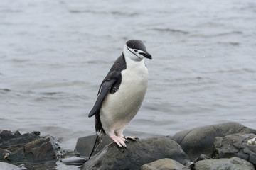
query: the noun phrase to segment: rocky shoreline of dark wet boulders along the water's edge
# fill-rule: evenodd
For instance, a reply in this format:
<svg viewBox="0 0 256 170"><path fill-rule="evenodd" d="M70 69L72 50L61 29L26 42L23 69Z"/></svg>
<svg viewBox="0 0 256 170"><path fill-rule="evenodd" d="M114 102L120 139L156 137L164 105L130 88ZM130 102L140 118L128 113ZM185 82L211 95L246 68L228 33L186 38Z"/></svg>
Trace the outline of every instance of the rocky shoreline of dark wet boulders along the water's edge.
<svg viewBox="0 0 256 170"><path fill-rule="evenodd" d="M117 147L103 138L95 154L87 160L95 135L80 137L71 154L63 152L53 137L40 132L21 135L0 130L0 166L9 169L36 169L55 162L80 169L192 169L254 170L256 130L240 123L208 125L176 133L173 137L150 137ZM16 165L14 167L14 165ZM37 166L37 167L38 167ZM49 166L49 167L50 167ZM8 168L7 168L8 169Z"/></svg>

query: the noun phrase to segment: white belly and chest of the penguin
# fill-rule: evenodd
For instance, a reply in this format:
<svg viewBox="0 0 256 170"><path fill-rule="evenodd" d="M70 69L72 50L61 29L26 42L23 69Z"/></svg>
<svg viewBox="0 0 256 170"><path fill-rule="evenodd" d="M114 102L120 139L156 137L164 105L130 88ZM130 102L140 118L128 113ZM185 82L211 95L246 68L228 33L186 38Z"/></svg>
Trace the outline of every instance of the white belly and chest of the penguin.
<svg viewBox="0 0 256 170"><path fill-rule="evenodd" d="M123 130L134 118L146 94L147 81L148 71L145 66L122 71L118 91L108 94L100 109L100 120L105 132Z"/></svg>

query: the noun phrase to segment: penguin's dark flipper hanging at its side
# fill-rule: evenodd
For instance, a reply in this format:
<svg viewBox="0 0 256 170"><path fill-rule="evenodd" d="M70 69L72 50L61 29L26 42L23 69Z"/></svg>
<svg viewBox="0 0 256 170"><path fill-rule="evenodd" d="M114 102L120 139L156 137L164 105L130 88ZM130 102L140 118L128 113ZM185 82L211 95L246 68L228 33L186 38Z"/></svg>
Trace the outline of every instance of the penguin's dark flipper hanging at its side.
<svg viewBox="0 0 256 170"><path fill-rule="evenodd" d="M88 115L89 118L92 117L92 115L99 113L102 103L105 97L107 96L108 92L110 91L110 89L112 89L112 86L115 81L116 79L108 79L102 82L95 104Z"/></svg>

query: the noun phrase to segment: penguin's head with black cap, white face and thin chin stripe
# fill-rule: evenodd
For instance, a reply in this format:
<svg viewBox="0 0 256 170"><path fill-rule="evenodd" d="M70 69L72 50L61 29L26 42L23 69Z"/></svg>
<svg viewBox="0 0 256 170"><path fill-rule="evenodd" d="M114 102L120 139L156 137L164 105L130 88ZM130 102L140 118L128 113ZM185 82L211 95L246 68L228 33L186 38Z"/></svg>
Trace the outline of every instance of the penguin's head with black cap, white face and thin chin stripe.
<svg viewBox="0 0 256 170"><path fill-rule="evenodd" d="M134 61L142 61L144 58L152 59L149 52L146 51L146 46L141 40L129 40L124 45L124 56L129 57Z"/></svg>

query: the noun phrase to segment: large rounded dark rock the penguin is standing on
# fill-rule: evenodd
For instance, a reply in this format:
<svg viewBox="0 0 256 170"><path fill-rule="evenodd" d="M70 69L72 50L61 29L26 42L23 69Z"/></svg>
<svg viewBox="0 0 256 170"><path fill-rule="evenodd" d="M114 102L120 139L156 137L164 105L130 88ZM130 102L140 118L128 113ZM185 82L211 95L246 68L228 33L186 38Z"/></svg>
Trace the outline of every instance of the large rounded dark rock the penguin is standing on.
<svg viewBox="0 0 256 170"><path fill-rule="evenodd" d="M181 164L190 162L181 147L168 137L129 140L127 147L127 150L119 149L113 142L85 162L81 169L139 169L163 158L171 158Z"/></svg>

